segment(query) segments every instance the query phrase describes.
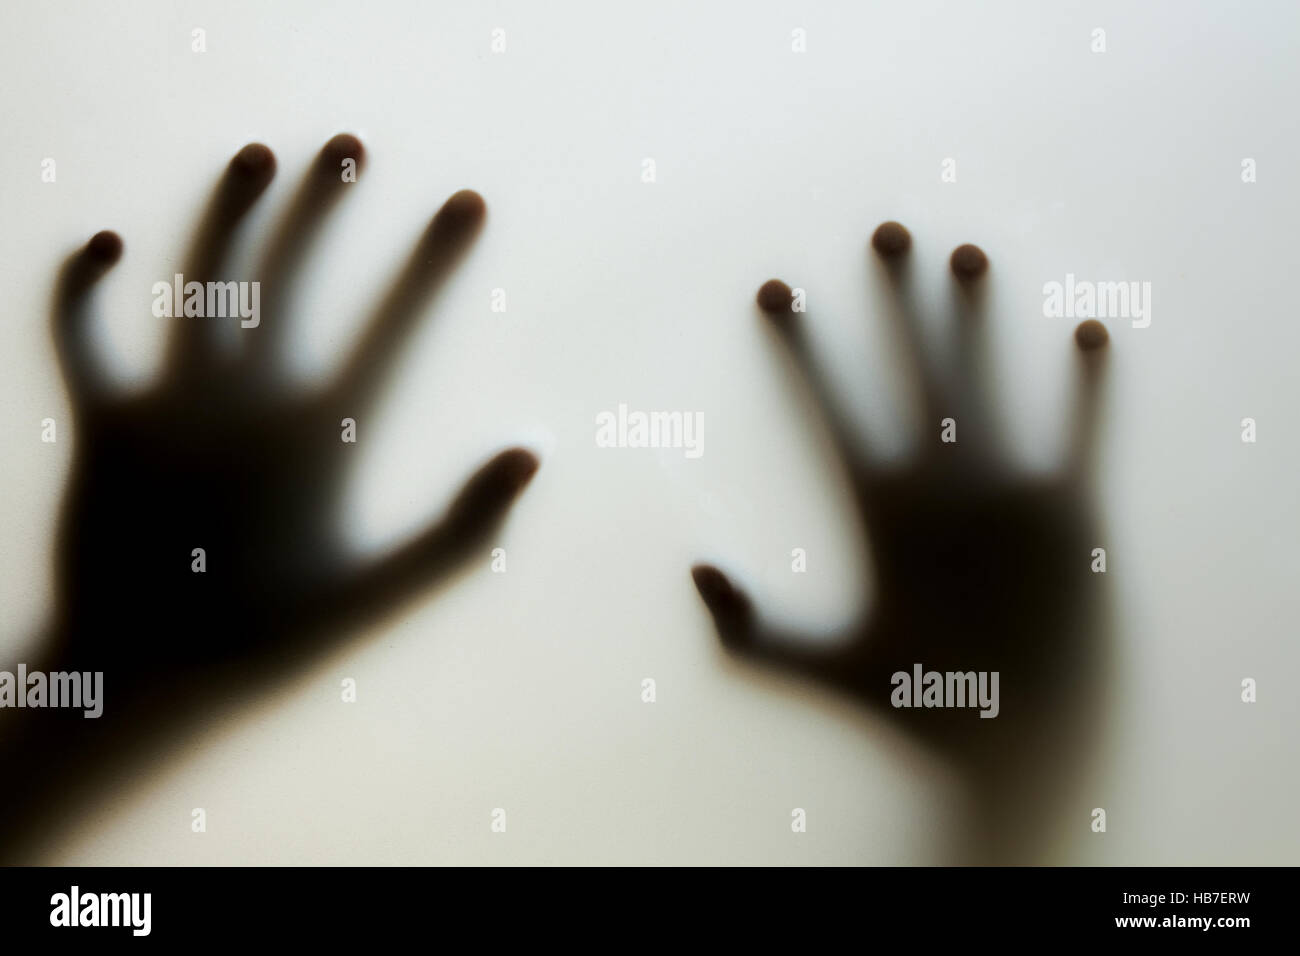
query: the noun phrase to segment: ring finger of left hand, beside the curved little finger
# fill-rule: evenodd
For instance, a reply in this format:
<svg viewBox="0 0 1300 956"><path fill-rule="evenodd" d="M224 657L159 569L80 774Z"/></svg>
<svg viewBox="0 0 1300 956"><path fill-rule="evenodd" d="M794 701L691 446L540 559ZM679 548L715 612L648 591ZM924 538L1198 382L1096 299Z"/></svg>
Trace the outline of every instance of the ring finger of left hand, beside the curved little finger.
<svg viewBox="0 0 1300 956"><path fill-rule="evenodd" d="M207 284L224 278L221 269L239 222L270 185L274 174L276 156L261 143L250 143L235 153L208 202L183 260L183 284ZM183 306L183 298L173 303L173 332L166 359L166 375L173 380L185 380L211 367L221 329L221 323L212 317L187 317Z"/></svg>

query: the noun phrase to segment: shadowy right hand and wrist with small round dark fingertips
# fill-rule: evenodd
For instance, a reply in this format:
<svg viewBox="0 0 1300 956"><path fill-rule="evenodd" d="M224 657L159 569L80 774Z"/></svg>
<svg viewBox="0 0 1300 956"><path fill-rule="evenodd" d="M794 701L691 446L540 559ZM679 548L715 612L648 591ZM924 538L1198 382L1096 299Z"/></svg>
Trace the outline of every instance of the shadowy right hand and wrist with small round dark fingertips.
<svg viewBox="0 0 1300 956"><path fill-rule="evenodd" d="M924 347L910 273L911 237L897 222L872 237L888 316L922 408L915 454L885 460L853 429L811 358L802 313L779 280L758 306L818 394L846 467L875 572L874 606L833 643L764 624L732 580L710 564L693 576L731 652L796 670L868 705L952 761L971 784L971 858L1030 858L1053 804L1069 801L1067 773L1096 736L1098 678L1106 665L1102 546L1092 506L1092 457L1108 333L1075 330L1078 394L1066 460L1054 475L1009 464L983 351L984 273L975 246L950 259L954 360ZM952 420L944 441L945 420ZM894 706L893 675L1000 674L1000 709ZM1087 795L1079 797L1087 801ZM1088 804L1091 806L1092 804ZM1086 826L1087 810L1079 817Z"/></svg>

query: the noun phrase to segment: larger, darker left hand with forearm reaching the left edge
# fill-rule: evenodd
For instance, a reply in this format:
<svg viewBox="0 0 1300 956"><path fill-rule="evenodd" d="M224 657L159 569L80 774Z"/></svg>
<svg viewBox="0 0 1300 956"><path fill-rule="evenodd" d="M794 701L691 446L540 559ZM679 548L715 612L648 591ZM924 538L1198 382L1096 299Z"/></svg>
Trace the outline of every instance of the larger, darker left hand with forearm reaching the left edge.
<svg viewBox="0 0 1300 956"><path fill-rule="evenodd" d="M361 143L334 137L272 235L250 277L261 284L260 324L160 319L170 328L165 367L142 394L113 394L88 345L91 291L121 256L121 239L99 233L58 276L53 332L75 450L56 544L57 615L40 666L103 671L104 714L3 714L0 862L38 847L160 737L211 719L482 557L538 467L524 449L503 451L403 548L376 559L350 551L337 519L355 445L341 440L342 420L365 428L400 343L472 245L485 206L476 193L452 195L342 371L294 392L283 362L294 287L326 215L352 189L341 172L348 159L364 164ZM230 161L182 263L187 282L229 278L240 220L274 170L260 144Z"/></svg>

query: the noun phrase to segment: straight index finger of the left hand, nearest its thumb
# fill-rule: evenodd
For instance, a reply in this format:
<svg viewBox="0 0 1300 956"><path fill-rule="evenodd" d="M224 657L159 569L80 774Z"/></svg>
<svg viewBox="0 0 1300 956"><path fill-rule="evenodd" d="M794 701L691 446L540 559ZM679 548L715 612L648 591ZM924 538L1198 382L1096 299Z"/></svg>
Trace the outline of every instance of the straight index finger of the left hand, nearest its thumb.
<svg viewBox="0 0 1300 956"><path fill-rule="evenodd" d="M335 398L356 406L373 397L400 343L473 243L486 215L482 196L473 190L456 193L438 209L339 373L333 386Z"/></svg>

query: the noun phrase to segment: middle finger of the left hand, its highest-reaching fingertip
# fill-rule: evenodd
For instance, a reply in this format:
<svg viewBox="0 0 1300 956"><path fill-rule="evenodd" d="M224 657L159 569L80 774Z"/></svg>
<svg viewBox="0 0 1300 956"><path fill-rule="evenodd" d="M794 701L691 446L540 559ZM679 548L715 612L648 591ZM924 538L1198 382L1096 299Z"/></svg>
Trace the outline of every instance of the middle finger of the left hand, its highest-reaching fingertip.
<svg viewBox="0 0 1300 956"><path fill-rule="evenodd" d="M316 155L298 194L280 224L260 269L261 323L250 337L248 362L266 373L282 358L289 330L286 303L302 272L303 260L332 209L356 182L365 164L365 147L350 133L339 133Z"/></svg>

